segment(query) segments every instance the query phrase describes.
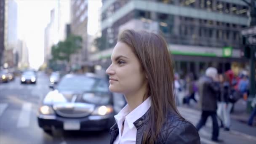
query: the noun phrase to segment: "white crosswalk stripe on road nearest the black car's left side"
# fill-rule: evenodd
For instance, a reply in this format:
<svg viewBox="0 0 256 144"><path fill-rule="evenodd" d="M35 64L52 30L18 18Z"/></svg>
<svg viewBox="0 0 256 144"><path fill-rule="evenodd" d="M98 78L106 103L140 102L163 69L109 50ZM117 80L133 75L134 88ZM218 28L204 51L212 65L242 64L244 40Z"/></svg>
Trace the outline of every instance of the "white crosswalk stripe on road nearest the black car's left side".
<svg viewBox="0 0 256 144"><path fill-rule="evenodd" d="M29 126L31 107L31 103L23 104L21 113L19 115L17 128L25 128Z"/></svg>

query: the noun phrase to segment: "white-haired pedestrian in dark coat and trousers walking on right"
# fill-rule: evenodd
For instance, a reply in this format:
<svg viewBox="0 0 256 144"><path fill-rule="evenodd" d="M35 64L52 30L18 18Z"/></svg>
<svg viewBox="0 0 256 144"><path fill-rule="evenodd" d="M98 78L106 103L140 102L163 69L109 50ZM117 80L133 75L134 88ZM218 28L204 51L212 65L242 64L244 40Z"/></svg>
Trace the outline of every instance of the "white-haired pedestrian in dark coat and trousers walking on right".
<svg viewBox="0 0 256 144"><path fill-rule="evenodd" d="M213 122L213 133L211 140L215 142L221 142L219 140L219 125L216 117L217 110L217 99L220 91L220 86L218 82L217 69L214 67L209 67L205 71L205 76L201 77L198 82L198 92L200 96L200 108L202 109L202 114L199 122L196 125L197 131L202 128L209 116L211 116Z"/></svg>

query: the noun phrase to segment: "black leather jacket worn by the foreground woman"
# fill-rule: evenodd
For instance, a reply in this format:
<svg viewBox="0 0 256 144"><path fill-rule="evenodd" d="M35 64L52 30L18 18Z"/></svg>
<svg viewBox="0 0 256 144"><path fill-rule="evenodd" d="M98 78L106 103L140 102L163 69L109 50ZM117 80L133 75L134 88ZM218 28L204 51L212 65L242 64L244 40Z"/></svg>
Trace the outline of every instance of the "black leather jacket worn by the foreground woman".
<svg viewBox="0 0 256 144"><path fill-rule="evenodd" d="M149 121L150 109L133 124L137 128L136 144L142 143L143 134ZM117 124L110 128L110 144L113 144L118 136ZM155 140L155 144L200 144L200 137L194 125L182 119L173 112L169 112L168 121L163 124L161 131Z"/></svg>

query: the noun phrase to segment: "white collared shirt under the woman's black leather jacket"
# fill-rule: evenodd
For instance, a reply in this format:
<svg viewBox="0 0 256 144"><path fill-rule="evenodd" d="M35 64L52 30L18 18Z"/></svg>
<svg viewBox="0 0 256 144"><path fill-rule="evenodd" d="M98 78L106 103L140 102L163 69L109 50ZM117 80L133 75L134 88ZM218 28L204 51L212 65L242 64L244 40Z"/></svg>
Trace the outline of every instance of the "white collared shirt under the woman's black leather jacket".
<svg viewBox="0 0 256 144"><path fill-rule="evenodd" d="M141 118L151 106L150 96L138 107L130 112L130 107L126 104L125 107L115 115L115 120L119 129L119 134L114 141L114 144L135 144L137 129L133 123ZM129 113L130 112L130 113ZM123 125L124 121L124 125ZM123 128L124 126L124 128ZM123 133L121 134L123 128Z"/></svg>

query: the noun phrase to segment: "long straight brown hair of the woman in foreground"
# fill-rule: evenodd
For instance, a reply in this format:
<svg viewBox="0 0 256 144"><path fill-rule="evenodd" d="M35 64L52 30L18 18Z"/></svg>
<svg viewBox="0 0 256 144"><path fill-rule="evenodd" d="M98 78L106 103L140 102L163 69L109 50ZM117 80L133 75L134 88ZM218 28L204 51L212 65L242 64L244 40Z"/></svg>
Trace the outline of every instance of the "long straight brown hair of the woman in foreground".
<svg viewBox="0 0 256 144"><path fill-rule="evenodd" d="M134 30L124 30L118 41L132 49L148 77L144 100L145 96L151 96L152 104L143 144L153 144L166 121L168 111L179 115L175 102L173 63L167 43L161 35Z"/></svg>

